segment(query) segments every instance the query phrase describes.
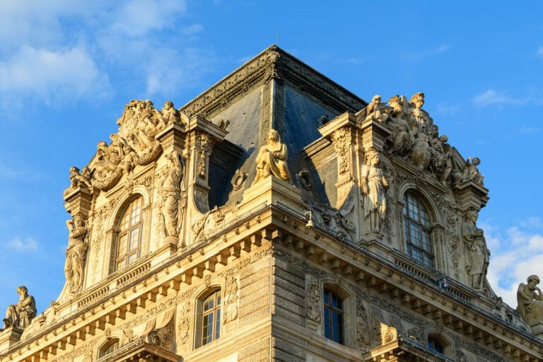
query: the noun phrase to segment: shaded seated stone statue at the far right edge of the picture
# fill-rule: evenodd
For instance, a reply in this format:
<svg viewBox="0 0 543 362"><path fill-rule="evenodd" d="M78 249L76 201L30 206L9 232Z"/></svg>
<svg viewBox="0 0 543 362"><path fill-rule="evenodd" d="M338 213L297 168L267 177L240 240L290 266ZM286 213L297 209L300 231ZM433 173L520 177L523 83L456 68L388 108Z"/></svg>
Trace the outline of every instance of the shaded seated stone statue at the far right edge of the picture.
<svg viewBox="0 0 543 362"><path fill-rule="evenodd" d="M543 293L537 287L539 276L530 275L528 284L520 283L517 291L517 312L528 325L543 323Z"/></svg>

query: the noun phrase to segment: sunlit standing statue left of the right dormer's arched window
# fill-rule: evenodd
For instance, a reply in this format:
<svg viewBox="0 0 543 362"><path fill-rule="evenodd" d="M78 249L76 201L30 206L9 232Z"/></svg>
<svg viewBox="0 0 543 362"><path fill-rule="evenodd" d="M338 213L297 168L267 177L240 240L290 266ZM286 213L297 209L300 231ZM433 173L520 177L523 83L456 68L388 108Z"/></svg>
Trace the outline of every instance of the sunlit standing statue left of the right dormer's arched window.
<svg viewBox="0 0 543 362"><path fill-rule="evenodd" d="M385 212L387 211L387 179L379 167L379 153L375 148L366 152L366 162L362 166L361 186L363 192L363 214L366 221L366 234L379 234Z"/></svg>

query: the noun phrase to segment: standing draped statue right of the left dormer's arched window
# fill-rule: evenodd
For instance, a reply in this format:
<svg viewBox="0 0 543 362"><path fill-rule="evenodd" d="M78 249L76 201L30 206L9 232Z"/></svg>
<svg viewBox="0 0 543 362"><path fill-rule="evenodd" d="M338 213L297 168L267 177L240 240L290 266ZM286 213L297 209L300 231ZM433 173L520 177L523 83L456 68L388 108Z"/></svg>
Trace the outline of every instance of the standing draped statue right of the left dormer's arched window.
<svg viewBox="0 0 543 362"><path fill-rule="evenodd" d="M185 163L179 152L169 153L168 172L162 183L160 192L162 194L162 204L160 211L164 220L164 233L166 236L178 237L180 226L185 210Z"/></svg>

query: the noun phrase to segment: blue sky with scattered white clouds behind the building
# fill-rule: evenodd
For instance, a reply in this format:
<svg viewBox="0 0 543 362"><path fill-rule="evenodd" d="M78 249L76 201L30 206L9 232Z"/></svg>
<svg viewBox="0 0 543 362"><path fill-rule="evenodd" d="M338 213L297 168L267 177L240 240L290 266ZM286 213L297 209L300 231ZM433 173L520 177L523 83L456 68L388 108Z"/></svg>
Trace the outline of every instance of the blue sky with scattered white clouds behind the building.
<svg viewBox="0 0 543 362"><path fill-rule="evenodd" d="M513 308L543 274L543 4L505 1L0 2L0 308L64 284L69 167L85 165L133 98L177 107L279 46L366 100L425 109L491 200L489 279Z"/></svg>

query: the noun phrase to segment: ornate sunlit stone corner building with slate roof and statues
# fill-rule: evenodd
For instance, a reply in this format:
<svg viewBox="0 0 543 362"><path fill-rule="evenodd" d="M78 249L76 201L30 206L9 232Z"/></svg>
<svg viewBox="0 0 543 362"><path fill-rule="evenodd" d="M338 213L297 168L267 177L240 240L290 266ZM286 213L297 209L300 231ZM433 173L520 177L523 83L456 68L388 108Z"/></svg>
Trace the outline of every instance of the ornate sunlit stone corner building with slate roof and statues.
<svg viewBox="0 0 543 362"><path fill-rule="evenodd" d="M479 159L423 105L278 47L180 109L133 100L71 168L66 285L38 315L18 289L0 362L542 361L539 279L518 310L492 291Z"/></svg>

